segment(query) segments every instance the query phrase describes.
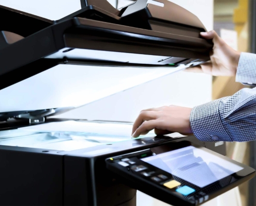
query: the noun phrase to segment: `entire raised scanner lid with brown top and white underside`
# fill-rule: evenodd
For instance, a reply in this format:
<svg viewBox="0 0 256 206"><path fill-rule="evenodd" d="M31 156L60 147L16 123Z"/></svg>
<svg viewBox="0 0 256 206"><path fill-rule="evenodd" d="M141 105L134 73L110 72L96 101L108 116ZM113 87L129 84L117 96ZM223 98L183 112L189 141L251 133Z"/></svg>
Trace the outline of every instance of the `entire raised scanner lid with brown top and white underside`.
<svg viewBox="0 0 256 206"><path fill-rule="evenodd" d="M81 5L58 21L0 6L0 122L41 123L209 60L204 26L174 3Z"/></svg>

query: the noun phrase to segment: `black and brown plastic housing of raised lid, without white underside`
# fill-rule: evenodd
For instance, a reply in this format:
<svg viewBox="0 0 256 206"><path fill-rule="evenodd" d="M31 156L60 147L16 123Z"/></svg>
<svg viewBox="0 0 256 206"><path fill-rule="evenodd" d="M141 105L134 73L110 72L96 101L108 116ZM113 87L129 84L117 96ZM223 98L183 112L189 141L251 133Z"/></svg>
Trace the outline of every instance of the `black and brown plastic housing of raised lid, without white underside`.
<svg viewBox="0 0 256 206"><path fill-rule="evenodd" d="M94 62L102 61L97 51L159 56L156 62L141 60L140 64L196 65L208 61L213 43L200 37L199 32L205 31L200 20L167 0L159 2L164 7L138 0L119 11L106 0L82 0L81 10L58 21L0 6L0 17L5 18L0 31L24 37L11 44L0 37L0 89L53 67L60 59L67 61L68 52L45 59L62 49L92 50ZM88 61L86 56L73 60ZM130 61L116 59L115 63L131 65ZM37 71L30 69L32 65Z"/></svg>

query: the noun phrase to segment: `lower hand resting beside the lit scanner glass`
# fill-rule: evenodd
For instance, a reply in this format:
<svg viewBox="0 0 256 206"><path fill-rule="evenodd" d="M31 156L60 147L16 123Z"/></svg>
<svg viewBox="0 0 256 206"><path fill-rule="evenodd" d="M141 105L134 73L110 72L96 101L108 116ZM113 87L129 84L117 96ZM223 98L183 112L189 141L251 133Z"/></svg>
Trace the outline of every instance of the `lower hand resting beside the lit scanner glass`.
<svg viewBox="0 0 256 206"><path fill-rule="evenodd" d="M173 132L191 134L189 122L191 110L191 108L173 105L142 110L133 124L132 136L137 138L153 129L158 135Z"/></svg>

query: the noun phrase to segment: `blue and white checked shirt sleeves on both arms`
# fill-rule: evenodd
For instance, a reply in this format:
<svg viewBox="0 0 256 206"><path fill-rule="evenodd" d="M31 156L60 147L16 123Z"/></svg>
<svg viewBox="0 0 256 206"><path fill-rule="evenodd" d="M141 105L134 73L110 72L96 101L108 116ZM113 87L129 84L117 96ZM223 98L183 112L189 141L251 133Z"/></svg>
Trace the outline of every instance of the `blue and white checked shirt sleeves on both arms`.
<svg viewBox="0 0 256 206"><path fill-rule="evenodd" d="M236 81L256 85L256 55L240 55ZM194 107L190 125L201 141L246 142L256 140L256 88Z"/></svg>

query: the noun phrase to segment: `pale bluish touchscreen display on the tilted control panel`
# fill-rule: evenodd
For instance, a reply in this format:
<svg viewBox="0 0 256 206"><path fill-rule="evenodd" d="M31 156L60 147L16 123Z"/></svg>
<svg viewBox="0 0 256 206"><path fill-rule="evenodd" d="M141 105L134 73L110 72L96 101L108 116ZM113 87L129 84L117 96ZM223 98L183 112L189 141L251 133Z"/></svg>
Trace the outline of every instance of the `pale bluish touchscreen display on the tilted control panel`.
<svg viewBox="0 0 256 206"><path fill-rule="evenodd" d="M193 146L141 160L199 187L212 184L243 169L241 166Z"/></svg>

